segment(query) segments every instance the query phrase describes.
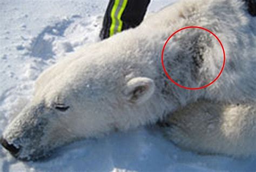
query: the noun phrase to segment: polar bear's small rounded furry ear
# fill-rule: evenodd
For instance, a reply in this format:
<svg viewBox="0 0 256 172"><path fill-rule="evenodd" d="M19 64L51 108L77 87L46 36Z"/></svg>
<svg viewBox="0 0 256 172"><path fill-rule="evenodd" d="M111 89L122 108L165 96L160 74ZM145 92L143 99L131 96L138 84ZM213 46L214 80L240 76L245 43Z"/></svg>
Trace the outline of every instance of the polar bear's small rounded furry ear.
<svg viewBox="0 0 256 172"><path fill-rule="evenodd" d="M147 77L132 78L125 85L125 99L133 104L146 102L154 92L154 81Z"/></svg>

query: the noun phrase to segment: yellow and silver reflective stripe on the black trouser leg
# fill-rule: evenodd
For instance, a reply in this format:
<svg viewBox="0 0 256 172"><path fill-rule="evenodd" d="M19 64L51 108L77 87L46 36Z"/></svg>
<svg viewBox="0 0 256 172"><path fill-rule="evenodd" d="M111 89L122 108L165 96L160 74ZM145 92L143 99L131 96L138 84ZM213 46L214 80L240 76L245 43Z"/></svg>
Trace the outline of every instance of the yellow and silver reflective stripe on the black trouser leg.
<svg viewBox="0 0 256 172"><path fill-rule="evenodd" d="M121 0L122 1L122 0ZM121 6L119 6L120 0L115 0L113 8L111 10L111 26L110 26L110 37L116 32L120 32L122 30L123 21L121 20L121 16L124 12L128 0L123 0ZM118 8L120 7L120 8ZM119 11L117 11L117 9ZM117 15L116 15L117 14ZM118 23L118 24L117 24ZM116 29L117 28L117 29Z"/></svg>

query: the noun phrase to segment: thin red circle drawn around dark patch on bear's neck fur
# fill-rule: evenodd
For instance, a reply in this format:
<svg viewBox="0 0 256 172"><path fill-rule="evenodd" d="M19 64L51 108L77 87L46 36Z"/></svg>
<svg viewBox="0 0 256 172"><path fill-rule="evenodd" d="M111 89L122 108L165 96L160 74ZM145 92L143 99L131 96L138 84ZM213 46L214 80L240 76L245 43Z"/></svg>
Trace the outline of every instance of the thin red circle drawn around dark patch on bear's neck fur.
<svg viewBox="0 0 256 172"><path fill-rule="evenodd" d="M180 32L180 31L182 31L182 30L185 30L185 29L187 29L187 28L200 28L201 30L205 30L205 31L207 31L208 33L211 33L211 34L218 40L218 42L219 42L219 44L220 44L220 46L221 46L221 48L222 48L222 50L223 50L223 65L222 65L222 67L221 67L220 73L218 74L217 77L215 77L215 79L214 79L212 82L210 82L210 83L208 83L208 84L206 84L206 85L204 85L204 86L202 86L202 87L190 88L190 87L185 87L185 86L183 86L183 85L180 85L179 83L175 82L175 81L171 78L171 76L167 73L167 71L166 71L166 69L165 69L165 66L164 66L164 49L165 49L167 43L168 43L169 40L173 37L174 34ZM203 89L203 88L206 88L206 87L210 86L210 85L213 84L215 81L217 81L218 78L220 77L221 73L222 73L223 70L224 70L225 61L226 61L225 49L224 49L224 46L223 46L223 44L221 43L220 39L219 39L219 38L217 37L217 35L215 35L212 31L208 30L207 28L200 27L200 26L187 26L187 27L180 28L179 30L177 30L176 32L174 32L174 33L166 40L166 42L165 42L165 44L164 44L164 46L163 46L163 49L162 49L162 53L161 53L161 63L162 63L162 66L163 66L165 75L166 75L166 76L169 78L169 80L170 80L171 82L173 82L174 84L178 85L178 86L181 87L181 88L188 89L188 90L200 90L200 89Z"/></svg>

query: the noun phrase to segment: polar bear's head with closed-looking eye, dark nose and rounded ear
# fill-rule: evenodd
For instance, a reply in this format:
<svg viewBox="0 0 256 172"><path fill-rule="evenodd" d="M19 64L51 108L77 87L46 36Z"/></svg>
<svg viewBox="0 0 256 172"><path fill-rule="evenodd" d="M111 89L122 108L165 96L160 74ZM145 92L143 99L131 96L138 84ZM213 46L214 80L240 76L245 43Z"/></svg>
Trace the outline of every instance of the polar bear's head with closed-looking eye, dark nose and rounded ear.
<svg viewBox="0 0 256 172"><path fill-rule="evenodd" d="M2 145L19 159L36 160L80 138L158 120L164 108L156 94L156 67L134 61L140 54L113 48L110 42L112 38L46 69L32 101L4 131Z"/></svg>

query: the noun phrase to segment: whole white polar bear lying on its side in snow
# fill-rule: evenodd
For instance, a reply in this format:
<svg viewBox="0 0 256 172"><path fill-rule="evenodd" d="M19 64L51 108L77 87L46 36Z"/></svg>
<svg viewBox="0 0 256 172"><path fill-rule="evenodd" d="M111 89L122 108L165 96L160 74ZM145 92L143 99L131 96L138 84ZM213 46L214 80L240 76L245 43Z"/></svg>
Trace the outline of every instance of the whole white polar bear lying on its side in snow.
<svg viewBox="0 0 256 172"><path fill-rule="evenodd" d="M6 127L2 145L18 159L37 160L78 139L162 121L166 137L187 150L253 154L256 19L246 4L255 5L181 1L137 28L79 49L39 76L32 101ZM200 90L170 82L160 60L169 35L190 25L217 34L226 51L223 74ZM170 45L164 63L173 80L200 87L219 73L223 54L207 32L180 32Z"/></svg>

